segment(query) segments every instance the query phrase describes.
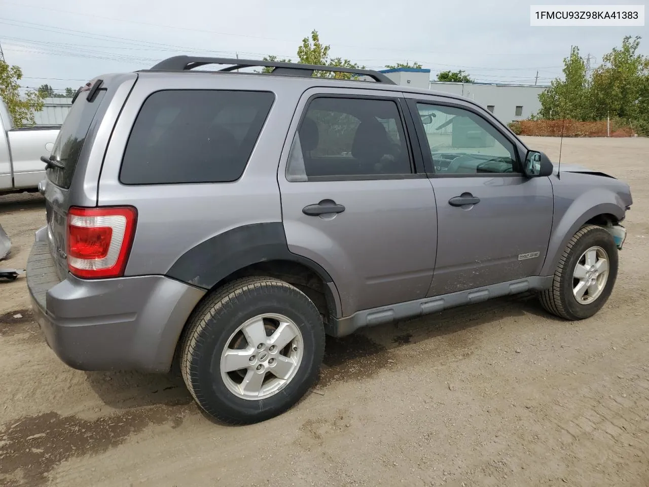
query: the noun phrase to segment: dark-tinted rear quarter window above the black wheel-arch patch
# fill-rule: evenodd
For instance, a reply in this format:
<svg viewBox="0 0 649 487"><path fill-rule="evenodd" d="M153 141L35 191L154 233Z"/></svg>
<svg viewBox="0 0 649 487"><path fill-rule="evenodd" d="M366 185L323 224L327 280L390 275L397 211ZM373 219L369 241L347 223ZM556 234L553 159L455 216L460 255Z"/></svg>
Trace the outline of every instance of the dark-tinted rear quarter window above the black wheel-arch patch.
<svg viewBox="0 0 649 487"><path fill-rule="evenodd" d="M165 90L152 94L130 132L119 181L236 181L274 99L269 92Z"/></svg>

